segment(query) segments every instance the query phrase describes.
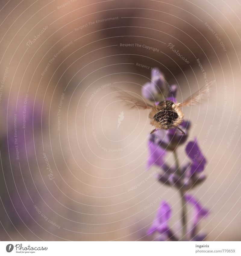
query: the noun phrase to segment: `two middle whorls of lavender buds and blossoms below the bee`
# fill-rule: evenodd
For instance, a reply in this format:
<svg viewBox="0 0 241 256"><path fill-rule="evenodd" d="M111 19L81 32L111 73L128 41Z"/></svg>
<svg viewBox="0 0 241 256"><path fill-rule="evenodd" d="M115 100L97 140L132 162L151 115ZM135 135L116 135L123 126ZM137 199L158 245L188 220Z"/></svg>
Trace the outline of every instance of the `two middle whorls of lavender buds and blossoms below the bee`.
<svg viewBox="0 0 241 256"><path fill-rule="evenodd" d="M205 175L200 175L200 172L204 170L206 160L199 150L197 142L189 142L186 148L186 151L189 153L188 156L193 157L193 161L180 166L178 171L177 168L173 166L170 167L165 163L164 156L166 155L166 150L175 150L180 144L183 144L187 140L189 126L190 123L188 121L183 121L181 124L185 134L170 129L158 130L149 135L150 157L148 160L148 168L154 163L160 166L164 173L158 174L158 180L163 184L184 190L193 188L206 179ZM192 151L194 151L194 153ZM195 152L199 152L196 159L194 155L197 156L197 154L195 154Z"/></svg>

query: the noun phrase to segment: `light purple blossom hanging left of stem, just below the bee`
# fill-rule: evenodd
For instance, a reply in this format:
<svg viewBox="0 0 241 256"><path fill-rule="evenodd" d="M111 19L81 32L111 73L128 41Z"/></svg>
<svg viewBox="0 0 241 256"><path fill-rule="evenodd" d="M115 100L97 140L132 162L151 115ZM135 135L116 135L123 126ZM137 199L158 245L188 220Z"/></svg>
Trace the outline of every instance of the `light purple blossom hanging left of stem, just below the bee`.
<svg viewBox="0 0 241 256"><path fill-rule="evenodd" d="M152 166L153 164L156 164L158 166L162 166L164 164L164 156L165 156L165 150L163 150L161 147L159 147L157 144L153 143L152 141L149 141L148 143L150 155L148 158L147 168Z"/></svg>

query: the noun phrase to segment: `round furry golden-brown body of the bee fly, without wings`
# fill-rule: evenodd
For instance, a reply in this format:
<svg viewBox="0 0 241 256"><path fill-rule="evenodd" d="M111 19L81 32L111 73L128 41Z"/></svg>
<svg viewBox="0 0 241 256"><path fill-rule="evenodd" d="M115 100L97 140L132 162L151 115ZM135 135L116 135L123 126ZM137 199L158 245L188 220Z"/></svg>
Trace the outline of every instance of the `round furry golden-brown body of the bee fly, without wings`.
<svg viewBox="0 0 241 256"><path fill-rule="evenodd" d="M183 122L183 113L179 104L166 100L153 107L149 118L151 119L151 125L156 129L168 130L177 128Z"/></svg>

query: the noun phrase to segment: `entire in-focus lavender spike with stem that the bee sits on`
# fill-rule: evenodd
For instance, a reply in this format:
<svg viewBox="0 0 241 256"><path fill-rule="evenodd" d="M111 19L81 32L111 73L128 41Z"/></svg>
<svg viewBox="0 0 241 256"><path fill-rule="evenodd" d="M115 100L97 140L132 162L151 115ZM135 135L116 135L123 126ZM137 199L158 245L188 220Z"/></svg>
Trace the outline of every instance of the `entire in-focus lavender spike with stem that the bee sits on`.
<svg viewBox="0 0 241 256"><path fill-rule="evenodd" d="M157 68L152 70L151 82L146 83L142 88L142 95L148 100L160 101L164 99L163 95L167 95L165 100L177 102L176 94L177 86L171 85L171 87L168 87L164 84L164 77ZM157 175L157 179L163 184L173 186L180 191L183 204L181 216L183 223L182 239L203 241L206 236L198 234L197 225L203 217L207 216L208 211L191 195L185 195L185 193L187 190L205 180L206 177L202 172L205 169L207 161L201 152L201 148L198 146L196 138L194 141L190 141L186 146L186 154L191 161L180 166L177 156L177 148L186 143L189 137L190 125L190 122L185 120L180 124L180 128L185 132L184 134L177 130L177 128L174 128L169 130L156 130L149 135L148 168L153 165L158 166L162 171ZM174 153L175 165L170 166L165 162L164 157L167 151ZM188 234L186 232L186 203L191 203L194 206L193 224ZM158 232L161 237L160 240L178 240L167 224L170 218L171 207L167 202L162 202L156 220L149 228L148 234L151 235L154 232Z"/></svg>

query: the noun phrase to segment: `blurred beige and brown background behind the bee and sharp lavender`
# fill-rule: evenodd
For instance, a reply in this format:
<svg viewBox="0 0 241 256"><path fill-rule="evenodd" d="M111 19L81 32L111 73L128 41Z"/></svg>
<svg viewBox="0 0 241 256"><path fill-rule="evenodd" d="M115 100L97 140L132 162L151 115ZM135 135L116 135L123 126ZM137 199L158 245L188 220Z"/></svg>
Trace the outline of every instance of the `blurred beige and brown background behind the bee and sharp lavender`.
<svg viewBox="0 0 241 256"><path fill-rule="evenodd" d="M141 95L153 67L179 101L216 80L183 110L190 139L208 134L208 178L192 194L210 209L208 241L241 239L238 1L3 0L0 13L1 240L153 240L159 202L144 208L168 186L146 167L148 112L110 89ZM163 199L179 226L179 194Z"/></svg>

